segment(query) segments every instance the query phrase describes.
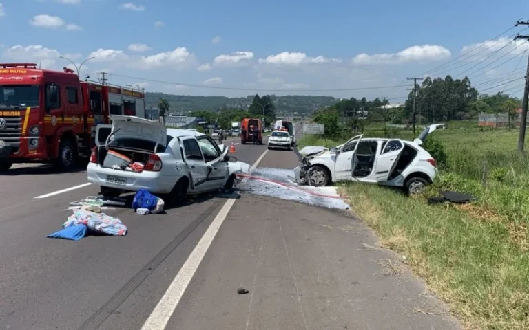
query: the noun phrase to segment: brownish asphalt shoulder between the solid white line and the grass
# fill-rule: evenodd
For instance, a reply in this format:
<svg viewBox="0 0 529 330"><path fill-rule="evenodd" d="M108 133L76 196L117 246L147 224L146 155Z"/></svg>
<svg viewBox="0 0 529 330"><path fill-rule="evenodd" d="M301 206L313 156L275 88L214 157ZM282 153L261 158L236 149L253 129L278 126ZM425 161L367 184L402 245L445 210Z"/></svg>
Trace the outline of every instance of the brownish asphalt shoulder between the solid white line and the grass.
<svg viewBox="0 0 529 330"><path fill-rule="evenodd" d="M238 287L249 294L238 295ZM243 196L167 329L458 329L361 221Z"/></svg>

